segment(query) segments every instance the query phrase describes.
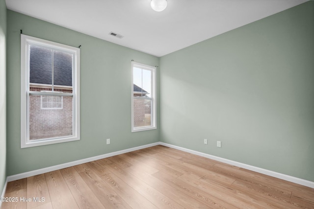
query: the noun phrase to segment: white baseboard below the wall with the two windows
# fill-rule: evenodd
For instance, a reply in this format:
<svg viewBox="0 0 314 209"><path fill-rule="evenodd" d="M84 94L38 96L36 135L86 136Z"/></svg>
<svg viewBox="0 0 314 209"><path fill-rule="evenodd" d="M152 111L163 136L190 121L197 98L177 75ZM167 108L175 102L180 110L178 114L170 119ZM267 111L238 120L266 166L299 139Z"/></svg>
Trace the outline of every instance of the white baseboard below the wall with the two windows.
<svg viewBox="0 0 314 209"><path fill-rule="evenodd" d="M120 150L120 151L116 151L116 152L107 153L107 154L104 154L104 155L98 155L98 156L91 157L91 158L85 158L85 159L78 160L78 161L73 161L73 162L69 162L69 163L63 163L63 164L54 165L54 166L50 166L50 167L46 167L46 168L41 168L41 169L38 169L38 170L33 170L33 171L25 172L25 173L20 173L20 174L8 176L7 177L7 182L12 182L12 181L15 181L15 180L19 180L19 179L27 178L27 177L30 177L30 176L35 176L35 175L51 172L51 171L54 171L54 170L59 170L59 169L66 168L66 167L71 167L71 166L82 164L82 163L88 163L88 162L92 162L92 161L97 161L97 160L100 160L100 159L103 159L103 158L108 158L108 157L112 157L112 156L115 156L115 155L120 155L120 154L124 154L124 153L128 153L128 152L132 152L132 151L139 150L139 149L144 149L144 148L147 148L147 147L156 146L158 144L159 144L159 142L146 144L146 145L142 145L142 146L133 147L133 148L130 148L130 149L124 149L124 150Z"/></svg>

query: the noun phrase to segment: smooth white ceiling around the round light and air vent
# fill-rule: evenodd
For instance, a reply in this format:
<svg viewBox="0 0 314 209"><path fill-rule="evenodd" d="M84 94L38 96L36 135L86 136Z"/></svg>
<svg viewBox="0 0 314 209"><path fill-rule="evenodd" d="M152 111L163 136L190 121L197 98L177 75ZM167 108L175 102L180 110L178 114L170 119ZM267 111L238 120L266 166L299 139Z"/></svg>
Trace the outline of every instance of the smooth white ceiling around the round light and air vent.
<svg viewBox="0 0 314 209"><path fill-rule="evenodd" d="M157 57L307 0L6 0L7 8ZM108 35L115 32L119 39Z"/></svg>

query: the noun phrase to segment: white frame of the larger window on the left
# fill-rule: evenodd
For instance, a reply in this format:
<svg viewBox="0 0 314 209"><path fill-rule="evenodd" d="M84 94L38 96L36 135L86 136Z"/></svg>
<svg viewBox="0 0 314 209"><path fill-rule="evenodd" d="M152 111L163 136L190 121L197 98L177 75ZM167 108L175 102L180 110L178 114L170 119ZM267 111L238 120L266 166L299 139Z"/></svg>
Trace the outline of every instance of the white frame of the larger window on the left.
<svg viewBox="0 0 314 209"><path fill-rule="evenodd" d="M41 46L73 54L73 92L33 92L29 91L29 46ZM80 139L79 116L79 67L80 49L44 39L21 34L21 148L61 143ZM73 97L73 135L58 138L29 140L29 95L56 95Z"/></svg>

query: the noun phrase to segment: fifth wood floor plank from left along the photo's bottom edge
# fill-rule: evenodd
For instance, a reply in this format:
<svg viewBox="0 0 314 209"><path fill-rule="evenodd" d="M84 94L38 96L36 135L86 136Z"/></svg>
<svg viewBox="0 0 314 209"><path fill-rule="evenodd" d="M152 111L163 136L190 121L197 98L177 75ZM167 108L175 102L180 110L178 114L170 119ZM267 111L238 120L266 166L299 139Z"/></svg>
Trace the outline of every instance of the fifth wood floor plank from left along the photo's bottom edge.
<svg viewBox="0 0 314 209"><path fill-rule="evenodd" d="M80 172L79 175L89 185L99 201L108 209L131 209L131 207L93 171Z"/></svg>

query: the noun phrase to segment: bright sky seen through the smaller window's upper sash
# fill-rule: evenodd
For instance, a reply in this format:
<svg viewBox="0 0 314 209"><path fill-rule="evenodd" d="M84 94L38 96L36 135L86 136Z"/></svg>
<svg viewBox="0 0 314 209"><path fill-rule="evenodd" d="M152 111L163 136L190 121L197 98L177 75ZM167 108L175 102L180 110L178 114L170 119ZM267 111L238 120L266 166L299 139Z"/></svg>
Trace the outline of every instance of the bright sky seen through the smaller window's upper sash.
<svg viewBox="0 0 314 209"><path fill-rule="evenodd" d="M152 72L150 70L133 68L133 83L148 92L149 94L146 94L148 97L151 97L152 93L151 76Z"/></svg>

